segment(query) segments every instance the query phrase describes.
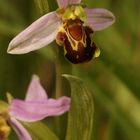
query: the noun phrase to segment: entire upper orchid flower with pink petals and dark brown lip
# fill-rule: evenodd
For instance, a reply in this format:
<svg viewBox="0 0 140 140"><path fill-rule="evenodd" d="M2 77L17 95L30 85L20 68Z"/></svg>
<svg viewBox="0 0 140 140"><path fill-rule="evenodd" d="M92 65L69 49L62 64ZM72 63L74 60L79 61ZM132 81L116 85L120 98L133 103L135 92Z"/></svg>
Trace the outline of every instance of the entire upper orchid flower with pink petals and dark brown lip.
<svg viewBox="0 0 140 140"><path fill-rule="evenodd" d="M56 39L72 63L98 57L99 49L91 42L90 35L112 25L115 17L103 8L83 8L80 2L81 0L57 0L59 8L42 16L19 33L10 42L7 52L28 53Z"/></svg>

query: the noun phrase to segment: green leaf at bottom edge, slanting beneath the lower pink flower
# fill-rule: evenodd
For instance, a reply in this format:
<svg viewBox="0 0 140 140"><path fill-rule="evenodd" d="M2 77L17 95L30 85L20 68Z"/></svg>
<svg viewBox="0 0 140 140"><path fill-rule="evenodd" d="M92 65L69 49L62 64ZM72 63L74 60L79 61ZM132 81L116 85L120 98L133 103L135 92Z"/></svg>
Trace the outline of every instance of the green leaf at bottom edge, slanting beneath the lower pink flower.
<svg viewBox="0 0 140 140"><path fill-rule="evenodd" d="M59 140L59 138L42 122L23 123L33 140Z"/></svg>

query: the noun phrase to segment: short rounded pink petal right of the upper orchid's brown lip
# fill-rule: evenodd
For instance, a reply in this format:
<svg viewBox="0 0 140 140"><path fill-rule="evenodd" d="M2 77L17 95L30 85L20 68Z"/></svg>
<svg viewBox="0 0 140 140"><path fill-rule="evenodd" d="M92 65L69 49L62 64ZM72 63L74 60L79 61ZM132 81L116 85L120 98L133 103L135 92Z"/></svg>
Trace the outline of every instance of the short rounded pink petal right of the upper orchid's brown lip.
<svg viewBox="0 0 140 140"><path fill-rule="evenodd" d="M85 8L87 13L87 22L94 31L103 30L115 22L115 16L113 13L106 9L88 9Z"/></svg>

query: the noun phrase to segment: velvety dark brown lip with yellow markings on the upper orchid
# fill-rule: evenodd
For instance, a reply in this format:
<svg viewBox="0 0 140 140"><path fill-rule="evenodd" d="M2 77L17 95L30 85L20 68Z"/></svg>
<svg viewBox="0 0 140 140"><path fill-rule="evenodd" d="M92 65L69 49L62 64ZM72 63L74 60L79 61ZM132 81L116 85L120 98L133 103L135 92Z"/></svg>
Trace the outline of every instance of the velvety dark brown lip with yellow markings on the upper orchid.
<svg viewBox="0 0 140 140"><path fill-rule="evenodd" d="M93 31L83 26L79 19L64 22L64 31L57 34L56 41L64 47L65 57L72 63L90 61L96 52L96 45L91 42Z"/></svg>

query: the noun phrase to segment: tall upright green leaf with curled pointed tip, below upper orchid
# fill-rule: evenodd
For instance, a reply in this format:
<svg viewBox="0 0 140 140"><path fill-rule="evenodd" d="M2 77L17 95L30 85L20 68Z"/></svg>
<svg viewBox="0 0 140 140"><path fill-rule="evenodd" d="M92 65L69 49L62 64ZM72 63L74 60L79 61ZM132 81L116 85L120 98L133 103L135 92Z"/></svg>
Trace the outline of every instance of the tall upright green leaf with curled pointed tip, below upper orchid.
<svg viewBox="0 0 140 140"><path fill-rule="evenodd" d="M63 75L71 86L71 108L66 140L91 140L94 105L92 94L77 77Z"/></svg>

